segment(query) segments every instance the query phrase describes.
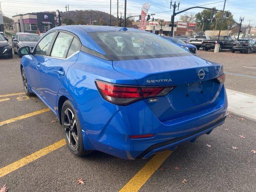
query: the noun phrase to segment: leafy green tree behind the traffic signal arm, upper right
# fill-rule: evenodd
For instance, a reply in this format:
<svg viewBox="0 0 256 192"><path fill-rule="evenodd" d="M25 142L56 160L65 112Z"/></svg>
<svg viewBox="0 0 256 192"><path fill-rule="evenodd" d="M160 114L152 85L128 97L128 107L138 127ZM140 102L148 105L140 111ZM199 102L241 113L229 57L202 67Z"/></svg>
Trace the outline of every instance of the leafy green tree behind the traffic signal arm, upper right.
<svg viewBox="0 0 256 192"><path fill-rule="evenodd" d="M196 14L196 24L201 31L203 26L204 31L215 30L215 28L216 30L220 30L221 16L221 11L215 11L213 14L212 10L204 9L202 12ZM215 21L212 20L213 17L215 18ZM229 15L226 15L225 12L221 30L228 30L229 28L231 28L231 26L234 24L234 22L232 21L234 21L233 15L231 13L229 13Z"/></svg>

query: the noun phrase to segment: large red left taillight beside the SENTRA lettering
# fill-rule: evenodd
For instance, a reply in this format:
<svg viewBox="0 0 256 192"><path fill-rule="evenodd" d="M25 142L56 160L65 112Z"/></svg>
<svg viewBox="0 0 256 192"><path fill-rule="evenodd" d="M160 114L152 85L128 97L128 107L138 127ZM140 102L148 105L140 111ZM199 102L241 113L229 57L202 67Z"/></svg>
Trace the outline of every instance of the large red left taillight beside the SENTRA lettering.
<svg viewBox="0 0 256 192"><path fill-rule="evenodd" d="M130 86L95 80L102 98L113 104L126 106L144 98L166 95L175 86Z"/></svg>

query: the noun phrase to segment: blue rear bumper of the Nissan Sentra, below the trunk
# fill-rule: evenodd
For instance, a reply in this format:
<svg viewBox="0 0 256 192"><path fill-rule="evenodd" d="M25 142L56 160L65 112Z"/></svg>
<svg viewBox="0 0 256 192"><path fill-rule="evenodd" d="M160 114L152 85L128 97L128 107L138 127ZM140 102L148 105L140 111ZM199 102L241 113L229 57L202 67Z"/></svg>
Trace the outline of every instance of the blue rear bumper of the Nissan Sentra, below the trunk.
<svg viewBox="0 0 256 192"><path fill-rule="evenodd" d="M219 102L198 112L160 122L145 102L126 107L110 104L98 97L80 105L79 116L84 131L84 144L124 159L148 158L152 154L191 141L210 133L224 123L227 97L224 86ZM130 135L155 134L152 138L130 139Z"/></svg>

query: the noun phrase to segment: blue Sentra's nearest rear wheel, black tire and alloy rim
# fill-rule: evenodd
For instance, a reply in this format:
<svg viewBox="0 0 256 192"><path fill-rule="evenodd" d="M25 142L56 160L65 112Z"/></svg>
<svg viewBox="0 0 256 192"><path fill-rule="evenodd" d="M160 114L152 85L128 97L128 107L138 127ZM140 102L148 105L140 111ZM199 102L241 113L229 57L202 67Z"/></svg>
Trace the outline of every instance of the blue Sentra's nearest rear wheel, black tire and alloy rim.
<svg viewBox="0 0 256 192"><path fill-rule="evenodd" d="M84 142L83 142L82 128L80 125L80 121L76 114L76 110L74 109L73 105L69 100L66 100L62 106L61 122L62 122L62 130L64 133L64 137L69 150L74 155L79 157L91 153L92 151L84 149Z"/></svg>

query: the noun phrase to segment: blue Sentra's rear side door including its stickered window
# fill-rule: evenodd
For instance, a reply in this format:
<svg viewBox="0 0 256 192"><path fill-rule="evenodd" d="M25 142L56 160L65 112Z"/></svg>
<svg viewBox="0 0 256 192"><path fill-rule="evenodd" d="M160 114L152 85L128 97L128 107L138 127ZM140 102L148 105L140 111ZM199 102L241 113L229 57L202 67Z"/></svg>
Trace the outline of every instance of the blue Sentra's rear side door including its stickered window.
<svg viewBox="0 0 256 192"><path fill-rule="evenodd" d="M68 68L78 57L81 43L69 32L59 31L52 44L51 51L40 68L40 90L46 104L54 109L59 87L64 80Z"/></svg>

